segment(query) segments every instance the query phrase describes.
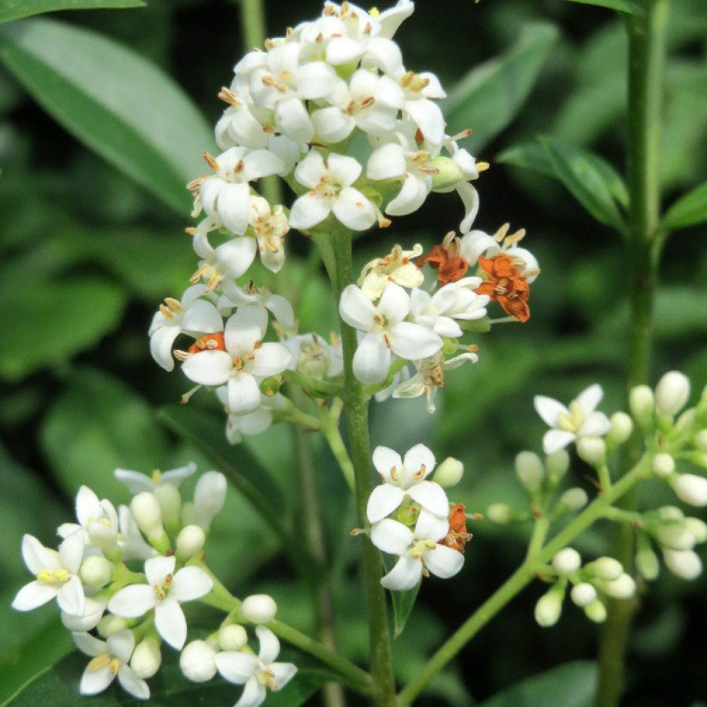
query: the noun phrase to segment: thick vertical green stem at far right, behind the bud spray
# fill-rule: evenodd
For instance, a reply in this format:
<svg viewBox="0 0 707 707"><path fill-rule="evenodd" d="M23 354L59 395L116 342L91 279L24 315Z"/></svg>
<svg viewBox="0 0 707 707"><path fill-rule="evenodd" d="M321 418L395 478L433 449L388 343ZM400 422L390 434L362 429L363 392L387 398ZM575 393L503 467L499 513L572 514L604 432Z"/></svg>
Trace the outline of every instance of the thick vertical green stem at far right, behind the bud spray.
<svg viewBox="0 0 707 707"><path fill-rule="evenodd" d="M631 328L629 330L629 389L648 380L652 341L651 319L657 279L654 247L660 220L659 148L662 107L662 71L665 59L665 27L669 0L642 0L643 13L626 16L629 35L629 135L627 175L629 208L629 269ZM636 436L627 445L624 468L640 454ZM634 493L620 504L636 507ZM614 556L626 571L633 568L633 529L617 527ZM637 602L612 601L602 626L599 650L597 707L619 704L624 677L626 643Z"/></svg>

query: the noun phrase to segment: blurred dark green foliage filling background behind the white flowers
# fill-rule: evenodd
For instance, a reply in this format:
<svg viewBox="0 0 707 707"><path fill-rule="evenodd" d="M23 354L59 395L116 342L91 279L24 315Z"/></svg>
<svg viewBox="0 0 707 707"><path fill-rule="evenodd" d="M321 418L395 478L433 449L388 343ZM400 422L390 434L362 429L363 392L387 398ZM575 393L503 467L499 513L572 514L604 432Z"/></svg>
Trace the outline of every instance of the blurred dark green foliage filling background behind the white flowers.
<svg viewBox="0 0 707 707"><path fill-rule="evenodd" d="M314 0L267 0L268 29L280 33L319 7ZM127 501L112 479L115 467L150 472L192 459L201 470L214 464L213 455L175 436L174 426L158 423L156 410L178 402L189 386L180 373L168 375L151 361L146 329L160 299L179 296L195 267L182 234L190 223L183 187L204 170L201 151L213 149L209 126L222 110L216 93L243 52L238 13L238 4L226 0L153 0L131 11L62 13L0 29L0 617L6 628L0 701L70 647L53 609L30 616L8 609L27 580L19 555L23 532L51 544L54 527L71 516L81 484ZM0 19L8 16L0 13ZM409 68L435 71L448 88L450 129L471 127L469 145L491 162L478 183L477 227L493 231L512 221L527 228L527 246L542 275L532 286L530 322L479 337L479 363L450 373L436 416L428 416L420 400L374 406L373 443L404 451L422 441L440 459L462 459L467 473L455 496L468 510L483 511L498 500L520 504L513 457L524 448L537 450L543 431L532 395L571 399L598 381L606 392L604 410L624 404L626 256L619 235L585 211L620 230L626 206L619 177L625 159L624 30L608 9L561 0L421 1L398 39ZM707 382L703 0L673 3L669 51L661 161L665 223L688 230L665 246L653 375L680 368L701 386ZM390 230L359 240L356 264L362 267L396 242L428 247L461 216L453 195L434 195L414 218L399 218ZM324 274L304 239L292 235L288 248L281 276L263 274L260 281L291 297L303 331L327 334L336 309ZM201 406L217 412L205 401L194 398L194 413ZM364 660L356 545L348 536L354 513L333 458L316 436L310 444L325 499L337 636L345 655ZM264 503L275 506L276 495L285 499L285 508L271 511L288 516L296 544L302 530L293 513L299 490L292 450L291 431L272 428L233 450L231 461L236 469L247 465L243 470L255 486L257 467L273 474L278 491L265 493ZM575 460L573 484L590 491L586 472ZM293 579L273 527L240 491L229 492L226 512L216 521L210 563L235 594L267 590L284 620L312 631L308 585ZM646 503L672 502L660 484L642 493ZM479 521L472 531L464 573L452 583L424 583L394 643L401 680L419 670L520 560L522 530ZM602 552L609 534L608 527L597 527L578 548ZM695 648L707 630L705 585L704 578L685 584L665 576L643 597L626 705L677 704L676 684L684 696L680 703L707 694ZM431 684L427 703L470 705L515 682L484 706L587 703L592 665L576 661L594 655L596 628L569 606L555 629L537 628L532 604L541 592L531 588L497 617ZM66 659L76 681L80 658ZM544 673L566 661L573 662ZM538 673L544 674L532 677ZM560 694L576 701L551 701L552 689L564 689Z"/></svg>

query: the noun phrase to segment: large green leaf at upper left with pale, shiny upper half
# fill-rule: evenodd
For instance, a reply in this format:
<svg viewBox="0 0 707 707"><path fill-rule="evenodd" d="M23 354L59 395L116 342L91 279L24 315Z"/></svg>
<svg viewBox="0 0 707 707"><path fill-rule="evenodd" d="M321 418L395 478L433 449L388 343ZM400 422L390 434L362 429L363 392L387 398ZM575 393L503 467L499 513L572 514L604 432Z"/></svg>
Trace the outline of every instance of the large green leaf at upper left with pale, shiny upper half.
<svg viewBox="0 0 707 707"><path fill-rule="evenodd" d="M214 136L157 66L97 33L45 19L0 28L0 59L77 139L184 214Z"/></svg>

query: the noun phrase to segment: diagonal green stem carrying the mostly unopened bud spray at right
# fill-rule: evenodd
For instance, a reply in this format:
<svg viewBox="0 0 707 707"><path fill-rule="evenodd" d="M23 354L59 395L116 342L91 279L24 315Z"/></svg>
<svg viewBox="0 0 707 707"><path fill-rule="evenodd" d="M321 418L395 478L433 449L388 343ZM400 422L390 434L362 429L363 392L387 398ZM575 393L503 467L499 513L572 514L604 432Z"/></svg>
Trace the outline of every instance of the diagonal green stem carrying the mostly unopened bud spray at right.
<svg viewBox="0 0 707 707"><path fill-rule="evenodd" d="M486 626L486 624L503 609L521 590L530 584L538 566L546 564L564 547L567 547L575 537L584 532L592 523L603 517L607 508L624 496L637 481L650 469L650 457L644 456L638 464L624 477L619 479L608 493L602 493L583 513L580 513L572 522L551 539L537 553L529 553L522 565L501 585L496 592L452 633L452 636L443 643L437 652L426 663L419 674L414 677L398 696L398 706L407 707L420 694L426 684L434 675L442 670L452 658L459 653L464 645ZM540 534L542 530L537 530Z"/></svg>

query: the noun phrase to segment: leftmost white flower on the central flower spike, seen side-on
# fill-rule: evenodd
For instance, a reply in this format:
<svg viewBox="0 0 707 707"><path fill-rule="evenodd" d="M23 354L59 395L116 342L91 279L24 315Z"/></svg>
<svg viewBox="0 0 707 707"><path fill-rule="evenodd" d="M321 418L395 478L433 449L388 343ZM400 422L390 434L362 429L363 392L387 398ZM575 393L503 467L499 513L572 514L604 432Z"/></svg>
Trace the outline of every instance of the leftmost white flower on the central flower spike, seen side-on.
<svg viewBox="0 0 707 707"><path fill-rule="evenodd" d="M204 293L205 285L189 287L181 301L167 298L153 317L149 330L150 353L165 370L175 367L172 346L182 332L196 339L202 334L214 334L223 329L223 320L216 307L199 299Z"/></svg>

